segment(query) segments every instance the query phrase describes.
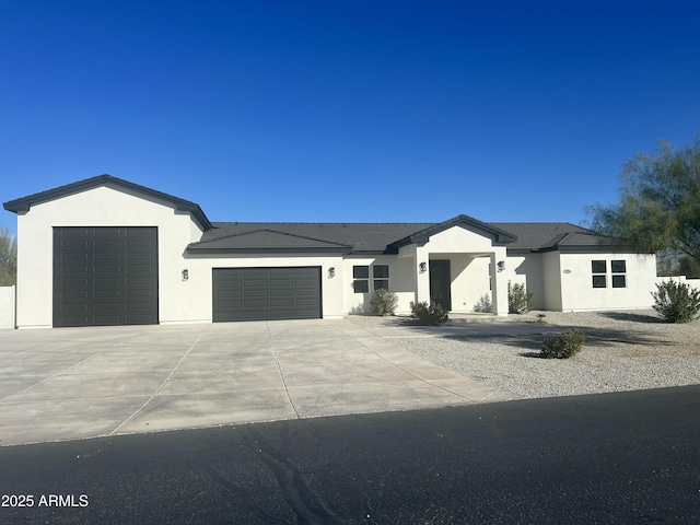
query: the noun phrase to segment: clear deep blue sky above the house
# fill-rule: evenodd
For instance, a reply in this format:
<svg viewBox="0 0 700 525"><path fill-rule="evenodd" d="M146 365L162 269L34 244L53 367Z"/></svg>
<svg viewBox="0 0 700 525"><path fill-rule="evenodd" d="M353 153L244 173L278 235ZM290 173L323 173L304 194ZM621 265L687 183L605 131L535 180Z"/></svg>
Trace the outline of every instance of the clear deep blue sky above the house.
<svg viewBox="0 0 700 525"><path fill-rule="evenodd" d="M3 0L0 201L109 173L212 221L580 223L700 132L698 27L695 0Z"/></svg>

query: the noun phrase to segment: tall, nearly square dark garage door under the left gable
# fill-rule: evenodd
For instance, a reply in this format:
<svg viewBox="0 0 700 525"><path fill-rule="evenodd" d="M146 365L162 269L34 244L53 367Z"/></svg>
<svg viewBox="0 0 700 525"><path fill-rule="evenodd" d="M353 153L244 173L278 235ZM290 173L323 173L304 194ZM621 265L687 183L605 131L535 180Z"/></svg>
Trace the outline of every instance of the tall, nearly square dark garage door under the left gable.
<svg viewBox="0 0 700 525"><path fill-rule="evenodd" d="M55 327L156 323L156 228L54 229Z"/></svg>

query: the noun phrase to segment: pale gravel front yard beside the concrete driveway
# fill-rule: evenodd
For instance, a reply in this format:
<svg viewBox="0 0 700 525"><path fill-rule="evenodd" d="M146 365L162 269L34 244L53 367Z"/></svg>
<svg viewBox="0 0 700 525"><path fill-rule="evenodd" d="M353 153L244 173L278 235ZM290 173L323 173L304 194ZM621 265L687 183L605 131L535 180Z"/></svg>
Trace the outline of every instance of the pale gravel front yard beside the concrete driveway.
<svg viewBox="0 0 700 525"><path fill-rule="evenodd" d="M541 312L505 322L431 328L396 338L404 349L466 377L525 398L570 396L700 384L700 320L663 323L653 310L634 312ZM404 324L406 318L358 317L357 323ZM481 329L479 329L481 327ZM568 360L541 359L544 338L578 328L583 350Z"/></svg>

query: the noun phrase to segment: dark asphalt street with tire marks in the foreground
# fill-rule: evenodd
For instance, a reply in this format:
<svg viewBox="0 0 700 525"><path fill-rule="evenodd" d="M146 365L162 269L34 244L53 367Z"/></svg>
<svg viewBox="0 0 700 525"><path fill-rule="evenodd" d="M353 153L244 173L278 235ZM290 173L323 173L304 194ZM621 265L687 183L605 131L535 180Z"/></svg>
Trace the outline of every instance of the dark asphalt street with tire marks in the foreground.
<svg viewBox="0 0 700 525"><path fill-rule="evenodd" d="M0 447L0 523L700 523L700 386Z"/></svg>

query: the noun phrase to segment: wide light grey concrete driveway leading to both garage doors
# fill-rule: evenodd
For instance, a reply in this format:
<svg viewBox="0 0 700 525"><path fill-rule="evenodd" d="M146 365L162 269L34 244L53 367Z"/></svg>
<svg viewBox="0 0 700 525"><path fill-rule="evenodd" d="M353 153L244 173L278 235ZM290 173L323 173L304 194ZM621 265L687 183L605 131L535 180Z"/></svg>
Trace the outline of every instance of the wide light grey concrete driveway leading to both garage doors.
<svg viewBox="0 0 700 525"><path fill-rule="evenodd" d="M0 445L517 398L392 340L417 335L348 319L0 331Z"/></svg>

